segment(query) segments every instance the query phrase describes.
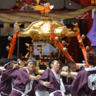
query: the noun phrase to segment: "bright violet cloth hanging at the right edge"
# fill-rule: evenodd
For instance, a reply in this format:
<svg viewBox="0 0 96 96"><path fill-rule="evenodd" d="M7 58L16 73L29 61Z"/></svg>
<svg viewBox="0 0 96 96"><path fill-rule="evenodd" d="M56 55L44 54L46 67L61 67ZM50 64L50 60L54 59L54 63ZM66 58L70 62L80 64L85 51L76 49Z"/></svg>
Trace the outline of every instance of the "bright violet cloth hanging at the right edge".
<svg viewBox="0 0 96 96"><path fill-rule="evenodd" d="M94 11L93 26L92 26L90 32L87 34L87 37L92 42L91 46L96 46L96 11Z"/></svg>

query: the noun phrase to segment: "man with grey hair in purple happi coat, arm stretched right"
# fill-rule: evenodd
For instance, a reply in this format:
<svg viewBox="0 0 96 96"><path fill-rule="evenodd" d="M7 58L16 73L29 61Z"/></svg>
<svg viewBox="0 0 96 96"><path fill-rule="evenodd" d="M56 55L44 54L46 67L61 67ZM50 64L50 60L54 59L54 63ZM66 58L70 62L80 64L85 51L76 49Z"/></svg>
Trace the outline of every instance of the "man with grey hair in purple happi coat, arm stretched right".
<svg viewBox="0 0 96 96"><path fill-rule="evenodd" d="M35 67L35 58L29 58L26 67L20 69L20 76L15 79L10 96L35 96L36 84L41 78L40 75L35 76Z"/></svg>

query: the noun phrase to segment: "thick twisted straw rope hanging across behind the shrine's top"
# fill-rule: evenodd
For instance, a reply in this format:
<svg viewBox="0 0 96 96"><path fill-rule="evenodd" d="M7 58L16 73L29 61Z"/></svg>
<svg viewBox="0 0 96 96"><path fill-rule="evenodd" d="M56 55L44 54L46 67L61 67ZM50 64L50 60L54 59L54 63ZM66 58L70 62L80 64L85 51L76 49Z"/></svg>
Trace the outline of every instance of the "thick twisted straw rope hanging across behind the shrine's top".
<svg viewBox="0 0 96 96"><path fill-rule="evenodd" d="M56 13L49 13L49 17L53 17L53 20L60 21L62 18L63 19L72 19L76 18L78 15L87 12L89 10L92 10L96 6L88 6L85 7L84 9L79 9L75 12L67 12L67 13L61 13L61 14L56 14ZM36 13L27 13L25 14L24 12L20 13L11 13L11 14L6 14L6 13L0 13L0 20L3 22L9 22L13 23L15 21L18 22L34 22L40 20L40 17L44 17L40 14Z"/></svg>

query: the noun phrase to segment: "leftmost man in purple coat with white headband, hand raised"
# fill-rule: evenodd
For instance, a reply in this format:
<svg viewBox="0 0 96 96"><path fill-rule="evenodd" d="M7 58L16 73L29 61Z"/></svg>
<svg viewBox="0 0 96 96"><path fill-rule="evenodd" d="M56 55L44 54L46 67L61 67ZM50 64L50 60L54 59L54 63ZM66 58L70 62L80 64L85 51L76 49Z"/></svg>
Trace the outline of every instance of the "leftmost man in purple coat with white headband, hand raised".
<svg viewBox="0 0 96 96"><path fill-rule="evenodd" d="M4 58L2 62L4 66L1 72L0 94L1 96L9 96L13 87L13 79L18 74L19 65L14 65L14 61L7 58Z"/></svg>

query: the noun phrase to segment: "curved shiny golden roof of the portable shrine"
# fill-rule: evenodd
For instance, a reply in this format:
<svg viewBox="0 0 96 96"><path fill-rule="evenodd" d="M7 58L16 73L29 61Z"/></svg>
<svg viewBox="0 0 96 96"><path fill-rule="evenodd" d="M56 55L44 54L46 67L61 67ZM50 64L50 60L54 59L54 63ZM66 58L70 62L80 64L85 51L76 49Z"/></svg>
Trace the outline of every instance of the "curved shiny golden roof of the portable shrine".
<svg viewBox="0 0 96 96"><path fill-rule="evenodd" d="M49 41L50 33L55 33L62 39L65 34L74 33L59 21L52 21L52 17L41 17L41 21L31 23L19 33L21 37L31 37L33 41ZM52 26L52 28L50 28Z"/></svg>

